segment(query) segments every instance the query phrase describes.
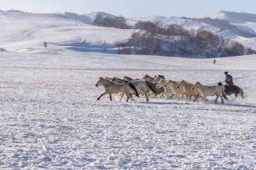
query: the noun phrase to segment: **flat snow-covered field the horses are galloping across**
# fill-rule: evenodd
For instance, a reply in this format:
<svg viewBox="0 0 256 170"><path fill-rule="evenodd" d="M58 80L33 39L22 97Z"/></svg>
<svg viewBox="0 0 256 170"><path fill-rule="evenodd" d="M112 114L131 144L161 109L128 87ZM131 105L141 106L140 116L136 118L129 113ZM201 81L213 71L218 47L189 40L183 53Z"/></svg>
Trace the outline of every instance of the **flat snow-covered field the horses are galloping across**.
<svg viewBox="0 0 256 170"><path fill-rule="evenodd" d="M0 52L0 169L255 169L256 55L212 60L68 50ZM208 103L97 97L98 77L223 81L247 98Z"/></svg>

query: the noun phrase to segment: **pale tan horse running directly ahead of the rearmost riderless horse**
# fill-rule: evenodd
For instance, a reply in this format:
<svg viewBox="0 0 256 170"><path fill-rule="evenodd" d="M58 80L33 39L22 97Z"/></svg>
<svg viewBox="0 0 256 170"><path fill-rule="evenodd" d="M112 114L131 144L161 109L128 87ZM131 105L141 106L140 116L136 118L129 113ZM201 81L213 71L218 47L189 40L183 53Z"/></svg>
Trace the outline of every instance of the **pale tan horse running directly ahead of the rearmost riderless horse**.
<svg viewBox="0 0 256 170"><path fill-rule="evenodd" d="M200 92L198 91L198 89L192 90L191 87L193 86L193 84L189 83L188 81L185 80L181 80L178 82L177 84L177 89L179 88L183 88L185 93L187 94L189 101L191 101L191 96L194 96L195 99L193 101L196 101L198 98L201 97Z"/></svg>

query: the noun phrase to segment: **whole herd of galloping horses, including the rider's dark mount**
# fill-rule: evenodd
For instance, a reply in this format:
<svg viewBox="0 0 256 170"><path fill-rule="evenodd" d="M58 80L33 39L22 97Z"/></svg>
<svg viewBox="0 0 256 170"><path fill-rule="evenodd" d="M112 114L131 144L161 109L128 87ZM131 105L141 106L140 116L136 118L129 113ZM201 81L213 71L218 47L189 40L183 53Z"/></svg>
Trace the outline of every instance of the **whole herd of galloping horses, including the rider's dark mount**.
<svg viewBox="0 0 256 170"><path fill-rule="evenodd" d="M175 96L177 101L183 101L183 96L186 96L189 101L193 97L193 101L197 101L198 98L202 98L205 103L208 101L207 96L216 96L215 103L217 103L218 98L221 99L221 103L224 103L224 99L228 101L228 96L235 94L235 98L240 96L244 98L244 91L235 86L233 91L228 91L226 85L218 83L214 86L204 86L199 81L195 84L192 84L188 81L171 81L170 79L165 79L162 75L155 75L150 77L148 74L145 74L141 79L132 79L130 77L124 77L119 79L117 77L100 77L95 84L96 86L104 86L105 92L97 98L97 101L100 100L102 96L109 95L110 101L112 101L112 94L121 94L120 101L124 94L127 96L127 101L132 100L133 94L139 97L139 94L146 98L146 101L149 101L149 96L160 95L162 97L165 95L167 99L169 94L171 97ZM234 98L234 99L235 99Z"/></svg>

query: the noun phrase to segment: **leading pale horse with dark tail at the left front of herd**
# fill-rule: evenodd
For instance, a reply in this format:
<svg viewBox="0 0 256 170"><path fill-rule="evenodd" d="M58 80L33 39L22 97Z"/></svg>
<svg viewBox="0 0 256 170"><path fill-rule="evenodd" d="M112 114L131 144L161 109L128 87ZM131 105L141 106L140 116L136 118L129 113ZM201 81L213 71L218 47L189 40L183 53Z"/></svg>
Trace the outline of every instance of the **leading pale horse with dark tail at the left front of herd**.
<svg viewBox="0 0 256 170"><path fill-rule="evenodd" d="M95 84L95 86L101 86L101 85L104 86L105 92L101 94L99 98L97 98L97 101L99 101L100 98L106 94L109 94L110 101L112 101L112 94L120 94L120 93L122 93L122 96L124 96L125 94L127 96L127 101L128 101L130 97L129 91L131 91L131 89L134 90L136 96L139 97L137 89L131 83L114 84L111 81L108 81L100 77L97 83ZM120 101L122 100L122 96L120 98Z"/></svg>

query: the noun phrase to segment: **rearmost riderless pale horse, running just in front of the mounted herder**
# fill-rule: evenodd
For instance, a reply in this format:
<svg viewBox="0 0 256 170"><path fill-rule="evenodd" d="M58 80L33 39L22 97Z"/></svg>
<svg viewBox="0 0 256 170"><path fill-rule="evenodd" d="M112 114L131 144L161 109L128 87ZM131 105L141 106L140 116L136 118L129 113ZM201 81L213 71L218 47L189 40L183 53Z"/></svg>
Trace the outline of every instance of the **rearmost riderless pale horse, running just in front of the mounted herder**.
<svg viewBox="0 0 256 170"><path fill-rule="evenodd" d="M227 96L225 95L225 91L222 86L203 86L199 81L197 81L193 86L191 87L191 90L198 89L198 91L201 93L203 96L203 100L207 101L206 97L207 96L217 96L215 98L215 103L217 103L217 99L220 97L221 98L221 103L224 103L223 97L226 99Z"/></svg>

